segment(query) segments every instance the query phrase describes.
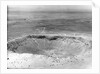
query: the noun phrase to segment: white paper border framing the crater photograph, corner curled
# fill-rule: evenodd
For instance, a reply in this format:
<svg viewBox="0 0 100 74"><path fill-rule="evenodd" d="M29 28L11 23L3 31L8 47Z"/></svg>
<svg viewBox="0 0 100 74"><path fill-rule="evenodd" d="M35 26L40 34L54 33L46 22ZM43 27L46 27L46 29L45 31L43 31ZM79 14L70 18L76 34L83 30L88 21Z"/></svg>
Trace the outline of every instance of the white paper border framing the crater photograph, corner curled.
<svg viewBox="0 0 100 74"><path fill-rule="evenodd" d="M99 73L99 10L92 5L92 69L7 69L8 5L92 5L91 1L2 1L1 73Z"/></svg>

